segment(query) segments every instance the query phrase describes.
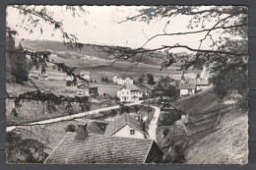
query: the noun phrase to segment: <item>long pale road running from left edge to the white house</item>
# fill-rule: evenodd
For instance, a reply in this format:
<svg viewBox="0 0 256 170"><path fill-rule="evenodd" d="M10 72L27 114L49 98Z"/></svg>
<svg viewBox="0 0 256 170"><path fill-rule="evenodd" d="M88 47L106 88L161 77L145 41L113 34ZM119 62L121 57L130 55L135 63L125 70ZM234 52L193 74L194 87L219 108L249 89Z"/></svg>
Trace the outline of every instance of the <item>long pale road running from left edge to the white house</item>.
<svg viewBox="0 0 256 170"><path fill-rule="evenodd" d="M136 101L134 103L125 104L125 105L136 105L136 104L141 104L141 103L142 103L142 101ZM45 125L45 124L52 124L52 123L56 123L56 122L68 121L68 120L84 117L85 115L95 114L100 111L107 111L107 110L112 110L112 109L117 109L117 108L119 108L119 105L105 107L105 108L101 108L101 109L97 109L97 110L92 110L89 112L82 112L82 113L78 113L78 114L74 114L74 115L70 115L70 116L64 116L64 117L58 117L58 118L48 119L48 120L44 120L44 121L32 122L29 124L23 124L21 126L10 126L10 127L6 128L6 132L11 132L11 131L17 129L18 127L32 126L32 125Z"/></svg>

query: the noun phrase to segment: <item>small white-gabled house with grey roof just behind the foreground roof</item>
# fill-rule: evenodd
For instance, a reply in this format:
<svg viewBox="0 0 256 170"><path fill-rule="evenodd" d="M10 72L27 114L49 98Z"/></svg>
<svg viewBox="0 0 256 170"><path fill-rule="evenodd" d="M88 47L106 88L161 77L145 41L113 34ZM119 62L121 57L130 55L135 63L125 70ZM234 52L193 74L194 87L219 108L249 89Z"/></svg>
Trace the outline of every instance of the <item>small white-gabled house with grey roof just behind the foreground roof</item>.
<svg viewBox="0 0 256 170"><path fill-rule="evenodd" d="M124 113L107 125L105 136L147 139L149 135L145 132L145 123L141 117L139 120Z"/></svg>

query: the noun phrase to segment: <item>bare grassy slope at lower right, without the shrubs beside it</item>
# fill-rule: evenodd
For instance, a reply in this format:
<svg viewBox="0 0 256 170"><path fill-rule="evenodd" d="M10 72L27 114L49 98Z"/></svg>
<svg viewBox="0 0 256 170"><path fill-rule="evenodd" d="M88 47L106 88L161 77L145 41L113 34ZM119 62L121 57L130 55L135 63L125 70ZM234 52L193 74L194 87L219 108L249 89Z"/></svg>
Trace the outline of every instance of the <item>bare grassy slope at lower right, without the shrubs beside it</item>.
<svg viewBox="0 0 256 170"><path fill-rule="evenodd" d="M176 105L188 113L189 145L186 163L247 163L247 111L224 107L211 89L179 100ZM217 123L217 115L224 112Z"/></svg>

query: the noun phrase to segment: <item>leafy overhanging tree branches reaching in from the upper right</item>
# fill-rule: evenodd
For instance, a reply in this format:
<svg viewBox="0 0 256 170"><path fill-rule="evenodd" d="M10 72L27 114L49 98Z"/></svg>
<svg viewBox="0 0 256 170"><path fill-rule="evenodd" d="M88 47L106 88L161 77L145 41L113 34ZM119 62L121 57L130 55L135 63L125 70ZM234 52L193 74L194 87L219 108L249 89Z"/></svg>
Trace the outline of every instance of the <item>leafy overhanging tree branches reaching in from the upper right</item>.
<svg viewBox="0 0 256 170"><path fill-rule="evenodd" d="M247 77L247 60L248 60L248 9L241 6L209 6L200 8L196 6L153 6L144 8L139 11L138 15L129 16L125 21L139 21L150 24L158 19L171 19L177 16L186 16L187 28L191 29L183 32L168 32L167 27L171 25L167 21L160 33L147 37L145 43L139 48L122 48L111 47L107 51L115 54L119 59L129 59L134 56L143 58L145 54L162 53L165 52L165 61L161 64L161 69L167 68L171 65L176 65L184 72L191 67L198 67L198 63L202 63L203 67L212 73L211 83L214 87L220 84L229 84L230 80L223 78L223 73L231 74L236 72L239 77L245 75ZM179 35L197 35L204 34L202 39L198 41L198 47L194 48L189 45L173 43L162 44L160 47L146 48L147 44L160 37L171 38ZM218 33L218 36L215 35ZM203 47L203 43L207 40L212 41L208 48ZM173 49L184 49L189 51L188 54L176 55ZM147 55L146 55L147 56ZM243 85L247 79L242 77L239 85L229 86L228 91L244 91L248 85ZM247 83L246 83L247 84ZM240 88L243 89L240 89ZM224 93L224 91L222 92ZM217 92L220 94L220 92ZM247 100L247 94L240 93L244 100ZM224 95L220 95L224 97Z"/></svg>

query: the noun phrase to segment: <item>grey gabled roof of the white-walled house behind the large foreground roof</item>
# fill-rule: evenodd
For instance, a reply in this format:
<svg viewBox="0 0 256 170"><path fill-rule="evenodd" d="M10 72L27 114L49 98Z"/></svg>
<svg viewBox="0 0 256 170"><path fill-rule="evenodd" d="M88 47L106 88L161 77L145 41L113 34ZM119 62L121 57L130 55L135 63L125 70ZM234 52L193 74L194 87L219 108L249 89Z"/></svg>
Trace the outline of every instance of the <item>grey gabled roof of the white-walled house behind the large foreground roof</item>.
<svg viewBox="0 0 256 170"><path fill-rule="evenodd" d="M106 127L105 135L111 136L127 124L147 135L147 133L143 131L142 123L130 116L128 113L123 113L115 121L109 123Z"/></svg>

